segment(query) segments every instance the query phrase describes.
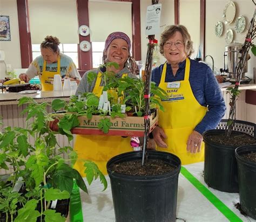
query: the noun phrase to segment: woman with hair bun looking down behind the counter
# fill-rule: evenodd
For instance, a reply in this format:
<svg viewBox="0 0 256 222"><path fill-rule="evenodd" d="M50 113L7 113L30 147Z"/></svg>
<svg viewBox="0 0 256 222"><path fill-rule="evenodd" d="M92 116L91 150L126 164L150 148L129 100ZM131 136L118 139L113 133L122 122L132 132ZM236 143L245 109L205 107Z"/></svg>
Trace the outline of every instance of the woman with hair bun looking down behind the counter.
<svg viewBox="0 0 256 222"><path fill-rule="evenodd" d="M53 90L54 75L59 74L62 78L68 78L71 81L81 79L73 60L59 52L59 39L53 36L46 36L40 45L41 56L32 61L26 73L19 75L19 79L29 82L36 75L39 76L42 91Z"/></svg>

